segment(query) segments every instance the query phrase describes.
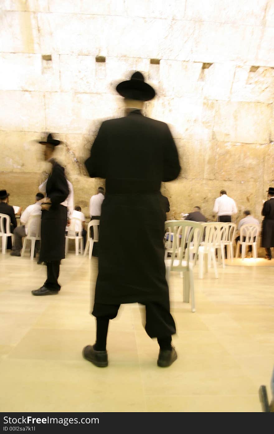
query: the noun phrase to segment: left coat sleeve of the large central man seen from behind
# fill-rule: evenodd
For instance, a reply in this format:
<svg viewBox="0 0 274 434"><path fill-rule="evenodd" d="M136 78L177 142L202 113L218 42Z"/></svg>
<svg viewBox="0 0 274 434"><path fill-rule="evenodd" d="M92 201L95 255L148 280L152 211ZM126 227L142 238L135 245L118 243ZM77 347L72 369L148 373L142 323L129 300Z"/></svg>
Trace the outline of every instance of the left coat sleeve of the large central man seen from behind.
<svg viewBox="0 0 274 434"><path fill-rule="evenodd" d="M106 178L105 158L103 145L106 143L106 125L102 123L90 151L90 157L85 161L85 166L90 178Z"/></svg>

